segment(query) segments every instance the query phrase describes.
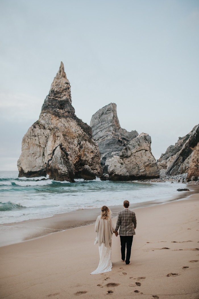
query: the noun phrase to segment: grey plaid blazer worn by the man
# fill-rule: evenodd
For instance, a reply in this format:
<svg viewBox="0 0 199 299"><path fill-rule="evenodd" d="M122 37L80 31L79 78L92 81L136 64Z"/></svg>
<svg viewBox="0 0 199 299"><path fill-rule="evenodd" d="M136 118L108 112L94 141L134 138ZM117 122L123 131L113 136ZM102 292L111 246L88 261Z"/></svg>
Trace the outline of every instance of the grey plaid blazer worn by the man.
<svg viewBox="0 0 199 299"><path fill-rule="evenodd" d="M119 231L120 236L133 236L137 225L135 213L129 209L124 209L118 213L118 220L116 223L115 231Z"/></svg>

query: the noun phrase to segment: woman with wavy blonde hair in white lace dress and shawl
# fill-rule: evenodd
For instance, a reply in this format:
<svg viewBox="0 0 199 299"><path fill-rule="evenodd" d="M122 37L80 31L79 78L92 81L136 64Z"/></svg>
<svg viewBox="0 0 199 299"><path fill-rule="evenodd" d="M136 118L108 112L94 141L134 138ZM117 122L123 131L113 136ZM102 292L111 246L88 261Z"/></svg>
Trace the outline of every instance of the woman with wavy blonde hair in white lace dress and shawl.
<svg viewBox="0 0 199 299"><path fill-rule="evenodd" d="M99 274L111 271L111 240L112 234L115 231L114 225L111 219L111 211L107 206L101 207L101 215L98 216L95 222L96 239L95 244L98 243L100 261L97 269L91 274Z"/></svg>

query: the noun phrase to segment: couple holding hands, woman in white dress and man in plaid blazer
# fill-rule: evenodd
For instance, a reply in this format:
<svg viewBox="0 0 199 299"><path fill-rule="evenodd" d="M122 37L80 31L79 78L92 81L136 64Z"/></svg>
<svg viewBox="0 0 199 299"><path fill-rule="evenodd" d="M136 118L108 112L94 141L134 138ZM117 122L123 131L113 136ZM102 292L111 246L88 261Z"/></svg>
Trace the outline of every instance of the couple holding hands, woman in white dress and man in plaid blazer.
<svg viewBox="0 0 199 299"><path fill-rule="evenodd" d="M97 269L91 274L99 274L111 271L111 240L112 235L118 236L118 229L120 227L119 235L121 242L121 259L125 261L127 265L130 265L131 246L133 236L135 235L135 228L137 222L135 213L129 210L129 201L124 201L124 210L118 213L118 219L116 227L112 223L111 211L107 206L101 207L101 215L98 216L95 222L96 239L95 243L98 243L100 261ZM125 251L127 249L126 260Z"/></svg>

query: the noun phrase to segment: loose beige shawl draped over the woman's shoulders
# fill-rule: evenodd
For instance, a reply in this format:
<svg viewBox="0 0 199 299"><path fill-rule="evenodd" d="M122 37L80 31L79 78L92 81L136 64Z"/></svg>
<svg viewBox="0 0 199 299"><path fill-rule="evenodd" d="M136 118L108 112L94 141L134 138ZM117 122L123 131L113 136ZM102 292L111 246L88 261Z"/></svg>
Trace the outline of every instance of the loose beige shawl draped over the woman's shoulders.
<svg viewBox="0 0 199 299"><path fill-rule="evenodd" d="M95 222L96 239L95 243L101 246L101 243L105 243L105 247L111 245L111 239L113 231L115 231L112 219L102 219L101 215L98 216Z"/></svg>

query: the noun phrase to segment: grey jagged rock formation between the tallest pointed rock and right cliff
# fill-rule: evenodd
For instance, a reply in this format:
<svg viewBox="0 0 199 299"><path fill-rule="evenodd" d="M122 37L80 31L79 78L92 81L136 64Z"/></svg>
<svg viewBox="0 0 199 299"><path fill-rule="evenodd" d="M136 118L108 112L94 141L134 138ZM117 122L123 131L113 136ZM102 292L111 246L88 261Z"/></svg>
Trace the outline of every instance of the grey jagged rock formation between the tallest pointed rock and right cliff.
<svg viewBox="0 0 199 299"><path fill-rule="evenodd" d="M98 110L92 116L90 126L101 153L101 166L109 175L109 180L127 181L159 176L151 152L150 136L122 129L115 103Z"/></svg>

